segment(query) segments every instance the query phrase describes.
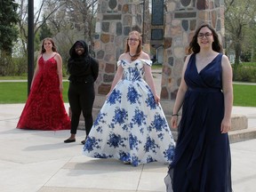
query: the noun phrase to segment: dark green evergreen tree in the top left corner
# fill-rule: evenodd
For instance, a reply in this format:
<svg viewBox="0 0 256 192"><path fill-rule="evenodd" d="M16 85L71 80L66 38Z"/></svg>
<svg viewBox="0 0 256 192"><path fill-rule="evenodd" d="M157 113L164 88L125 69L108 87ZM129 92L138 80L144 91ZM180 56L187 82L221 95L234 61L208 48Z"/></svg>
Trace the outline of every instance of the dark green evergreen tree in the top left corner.
<svg viewBox="0 0 256 192"><path fill-rule="evenodd" d="M1 0L0 2L0 52L12 55L12 43L17 40L19 20L17 8L19 4L14 0Z"/></svg>

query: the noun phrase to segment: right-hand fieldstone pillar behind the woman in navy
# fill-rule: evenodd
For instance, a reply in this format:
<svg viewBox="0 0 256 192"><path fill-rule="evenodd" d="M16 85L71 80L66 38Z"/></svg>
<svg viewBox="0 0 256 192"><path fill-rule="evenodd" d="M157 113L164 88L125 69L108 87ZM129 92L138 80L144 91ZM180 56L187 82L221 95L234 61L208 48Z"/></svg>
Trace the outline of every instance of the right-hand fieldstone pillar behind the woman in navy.
<svg viewBox="0 0 256 192"><path fill-rule="evenodd" d="M197 26L211 24L220 42L224 40L224 3L222 0L167 0L166 9L161 103L165 115L170 115L188 55L188 44Z"/></svg>

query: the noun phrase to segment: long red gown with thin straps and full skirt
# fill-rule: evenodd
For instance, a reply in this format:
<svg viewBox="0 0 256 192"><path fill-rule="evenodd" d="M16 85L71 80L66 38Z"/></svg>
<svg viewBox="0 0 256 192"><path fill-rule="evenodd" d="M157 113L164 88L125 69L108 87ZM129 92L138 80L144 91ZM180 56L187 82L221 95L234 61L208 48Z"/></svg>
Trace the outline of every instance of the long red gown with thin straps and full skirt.
<svg viewBox="0 0 256 192"><path fill-rule="evenodd" d="M49 60L41 56L38 60L38 73L17 128L43 131L70 129L54 56Z"/></svg>

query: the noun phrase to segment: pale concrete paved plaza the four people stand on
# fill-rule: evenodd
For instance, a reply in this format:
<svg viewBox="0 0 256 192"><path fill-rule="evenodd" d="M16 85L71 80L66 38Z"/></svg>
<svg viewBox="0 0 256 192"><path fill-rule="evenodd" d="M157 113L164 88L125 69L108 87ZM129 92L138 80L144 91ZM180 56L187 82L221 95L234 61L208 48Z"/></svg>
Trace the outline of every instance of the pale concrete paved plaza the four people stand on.
<svg viewBox="0 0 256 192"><path fill-rule="evenodd" d="M84 131L65 144L69 131L15 129L24 104L0 105L1 192L164 192L167 165L138 167L82 154ZM66 104L68 109L68 104ZM256 125L255 108L237 108ZM235 192L256 190L256 140L230 145Z"/></svg>

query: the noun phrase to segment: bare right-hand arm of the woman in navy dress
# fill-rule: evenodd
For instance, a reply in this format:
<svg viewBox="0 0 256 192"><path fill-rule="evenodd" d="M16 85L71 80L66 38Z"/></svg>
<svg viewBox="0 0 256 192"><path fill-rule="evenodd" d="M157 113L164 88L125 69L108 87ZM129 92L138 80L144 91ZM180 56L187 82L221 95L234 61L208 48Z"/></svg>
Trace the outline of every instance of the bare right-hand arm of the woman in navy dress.
<svg viewBox="0 0 256 192"><path fill-rule="evenodd" d="M232 84L232 68L228 57L222 56L222 90L224 94L224 117L221 122L221 133L226 133L231 129L231 113L233 105L233 84Z"/></svg>

